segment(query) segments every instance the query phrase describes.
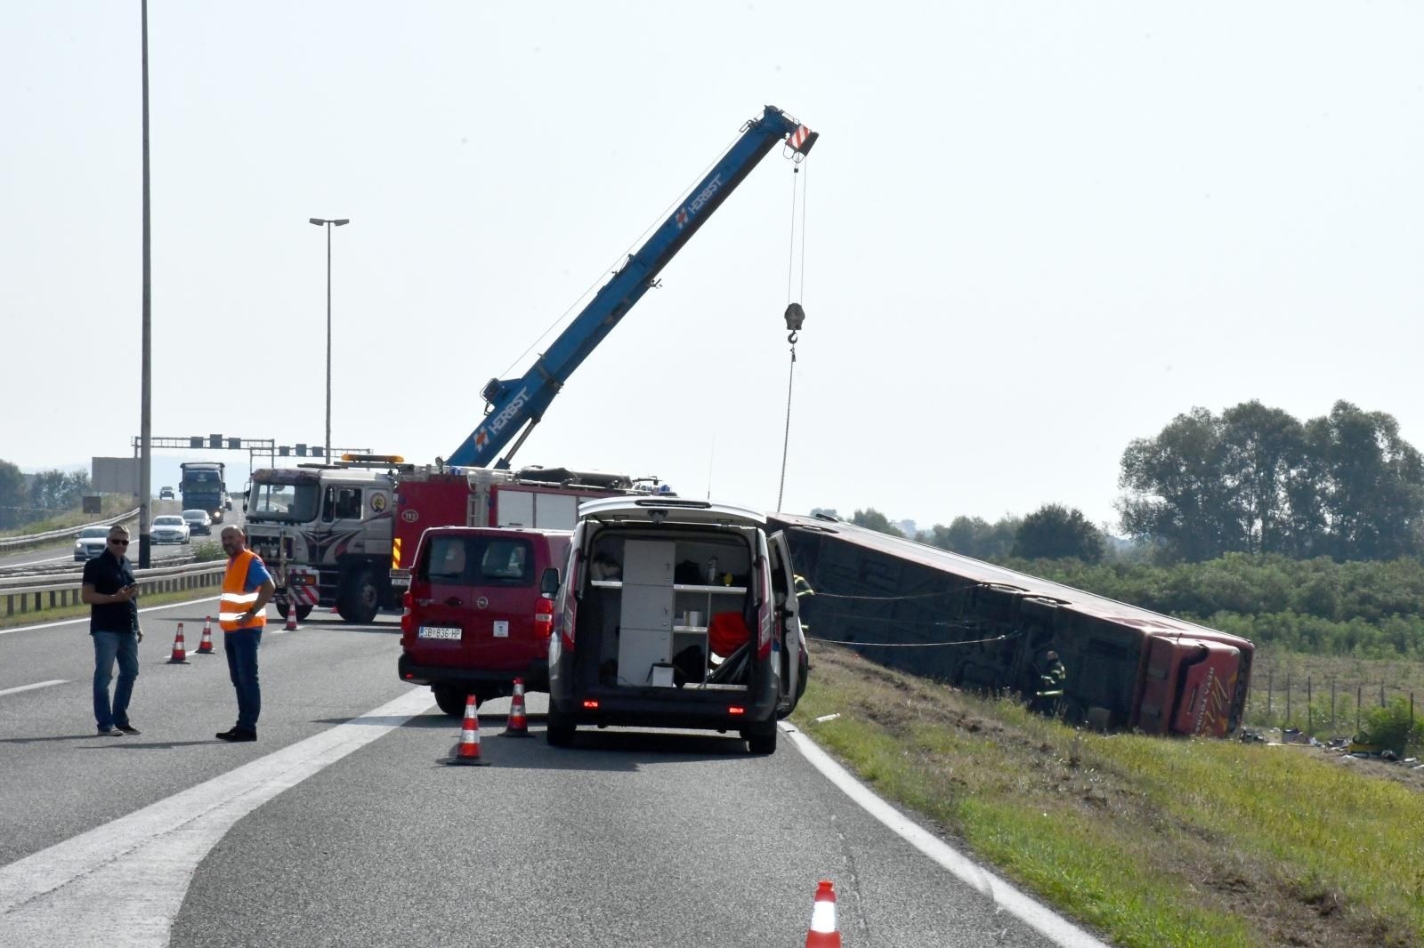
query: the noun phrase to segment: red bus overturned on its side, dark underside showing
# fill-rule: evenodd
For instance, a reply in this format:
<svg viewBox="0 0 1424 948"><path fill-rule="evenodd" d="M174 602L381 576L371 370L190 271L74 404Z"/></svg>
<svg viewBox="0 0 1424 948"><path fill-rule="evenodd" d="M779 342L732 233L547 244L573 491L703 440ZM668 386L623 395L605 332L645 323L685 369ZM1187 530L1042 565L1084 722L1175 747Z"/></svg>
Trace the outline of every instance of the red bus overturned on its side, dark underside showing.
<svg viewBox="0 0 1424 948"><path fill-rule="evenodd" d="M1025 697L1057 652L1067 680L1055 712L1104 730L1226 736L1246 712L1247 639L853 524L769 521L816 592L800 609L812 642Z"/></svg>

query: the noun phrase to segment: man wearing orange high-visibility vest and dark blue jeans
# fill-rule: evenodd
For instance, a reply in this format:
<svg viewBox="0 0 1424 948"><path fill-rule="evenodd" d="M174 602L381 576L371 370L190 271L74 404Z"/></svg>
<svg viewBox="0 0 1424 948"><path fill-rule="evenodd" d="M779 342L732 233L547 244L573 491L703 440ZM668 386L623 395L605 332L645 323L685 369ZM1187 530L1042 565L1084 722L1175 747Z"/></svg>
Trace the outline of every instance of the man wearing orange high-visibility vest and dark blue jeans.
<svg viewBox="0 0 1424 948"><path fill-rule="evenodd" d="M256 740L262 690L258 686L258 646L266 625L266 604L276 584L262 564L262 557L248 549L248 537L239 527L222 528L222 551L228 571L222 575L222 601L218 625L222 626L222 651L228 655L228 675L238 692L238 723L218 734L218 740Z"/></svg>

